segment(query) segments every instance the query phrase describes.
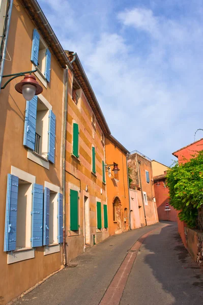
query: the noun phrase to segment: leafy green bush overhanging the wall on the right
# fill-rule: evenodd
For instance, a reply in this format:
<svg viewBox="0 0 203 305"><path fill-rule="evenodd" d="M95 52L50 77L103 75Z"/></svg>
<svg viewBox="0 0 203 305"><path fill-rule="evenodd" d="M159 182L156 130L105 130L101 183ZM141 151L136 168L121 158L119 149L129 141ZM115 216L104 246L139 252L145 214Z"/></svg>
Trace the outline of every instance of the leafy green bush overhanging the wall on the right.
<svg viewBox="0 0 203 305"><path fill-rule="evenodd" d="M188 227L197 225L198 210L203 204L203 150L185 164L167 171L170 205L179 210L179 219Z"/></svg>

